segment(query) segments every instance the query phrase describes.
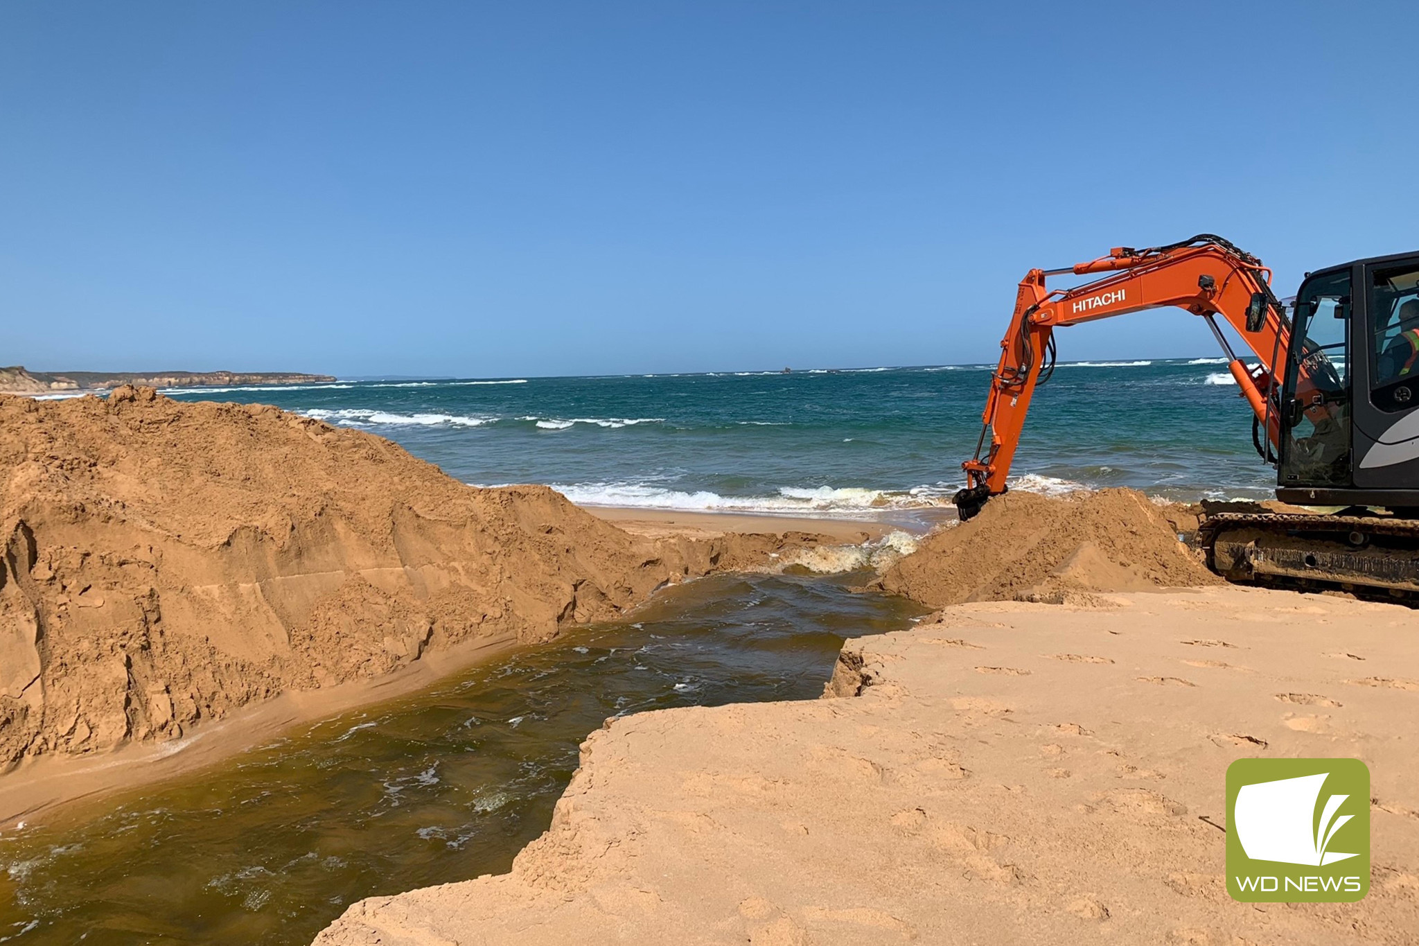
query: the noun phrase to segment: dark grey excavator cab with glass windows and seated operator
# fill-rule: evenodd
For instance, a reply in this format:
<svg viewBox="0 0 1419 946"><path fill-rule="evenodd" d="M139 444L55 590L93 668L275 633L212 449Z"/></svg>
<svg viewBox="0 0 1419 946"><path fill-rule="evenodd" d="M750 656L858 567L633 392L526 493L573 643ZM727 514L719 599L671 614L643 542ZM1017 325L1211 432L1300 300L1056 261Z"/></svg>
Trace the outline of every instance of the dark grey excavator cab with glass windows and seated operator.
<svg viewBox="0 0 1419 946"><path fill-rule="evenodd" d="M1419 513L1419 254L1307 277L1280 421L1279 499Z"/></svg>

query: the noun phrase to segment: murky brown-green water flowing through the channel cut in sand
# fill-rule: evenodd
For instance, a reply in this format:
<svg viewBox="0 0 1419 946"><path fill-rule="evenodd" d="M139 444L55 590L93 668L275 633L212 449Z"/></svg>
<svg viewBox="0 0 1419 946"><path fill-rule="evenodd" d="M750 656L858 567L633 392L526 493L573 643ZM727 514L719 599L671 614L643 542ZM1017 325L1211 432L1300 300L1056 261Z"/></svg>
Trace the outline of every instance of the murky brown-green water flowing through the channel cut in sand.
<svg viewBox="0 0 1419 946"><path fill-rule="evenodd" d="M921 608L864 576L715 576L176 783L0 833L0 943L308 943L353 901L504 872L607 716L812 699ZM43 820L41 820L43 821Z"/></svg>

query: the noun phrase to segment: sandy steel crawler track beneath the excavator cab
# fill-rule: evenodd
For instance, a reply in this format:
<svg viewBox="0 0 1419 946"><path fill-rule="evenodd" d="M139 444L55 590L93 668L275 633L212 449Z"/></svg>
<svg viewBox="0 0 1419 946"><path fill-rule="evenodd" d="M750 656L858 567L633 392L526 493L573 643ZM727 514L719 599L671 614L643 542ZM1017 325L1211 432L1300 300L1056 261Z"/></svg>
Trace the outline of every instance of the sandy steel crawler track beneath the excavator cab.
<svg viewBox="0 0 1419 946"><path fill-rule="evenodd" d="M1244 584L1338 589L1419 606L1419 521L1392 516L1218 513L1198 540L1208 567Z"/></svg>

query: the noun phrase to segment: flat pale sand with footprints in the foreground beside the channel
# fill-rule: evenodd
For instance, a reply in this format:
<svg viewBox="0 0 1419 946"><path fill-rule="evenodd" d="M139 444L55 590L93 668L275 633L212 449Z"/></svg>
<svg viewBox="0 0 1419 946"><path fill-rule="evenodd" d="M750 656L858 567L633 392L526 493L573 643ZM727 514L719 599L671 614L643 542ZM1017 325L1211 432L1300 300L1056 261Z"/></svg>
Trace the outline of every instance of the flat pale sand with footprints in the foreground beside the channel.
<svg viewBox="0 0 1419 946"><path fill-rule="evenodd" d="M1237 587L1095 601L962 604L850 641L844 698L610 720L509 874L362 901L316 943L1413 942L1413 611ZM1242 756L1369 764L1362 902L1227 896Z"/></svg>

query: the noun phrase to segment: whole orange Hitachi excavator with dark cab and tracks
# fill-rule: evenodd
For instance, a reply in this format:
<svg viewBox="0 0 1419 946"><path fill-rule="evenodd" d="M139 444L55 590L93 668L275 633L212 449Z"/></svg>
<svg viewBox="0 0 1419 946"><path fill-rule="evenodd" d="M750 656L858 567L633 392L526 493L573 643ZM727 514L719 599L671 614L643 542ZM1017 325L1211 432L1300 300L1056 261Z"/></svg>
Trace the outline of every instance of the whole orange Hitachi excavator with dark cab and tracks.
<svg viewBox="0 0 1419 946"><path fill-rule="evenodd" d="M1097 278L1046 288L1066 274ZM1239 583L1419 600L1419 252L1308 272L1290 305L1259 258L1212 234L1030 269L962 464L961 519L1007 489L1030 399L1054 369L1054 329L1164 306L1208 323L1252 407L1252 441L1277 469L1277 499L1304 506L1205 513L1209 567Z"/></svg>

